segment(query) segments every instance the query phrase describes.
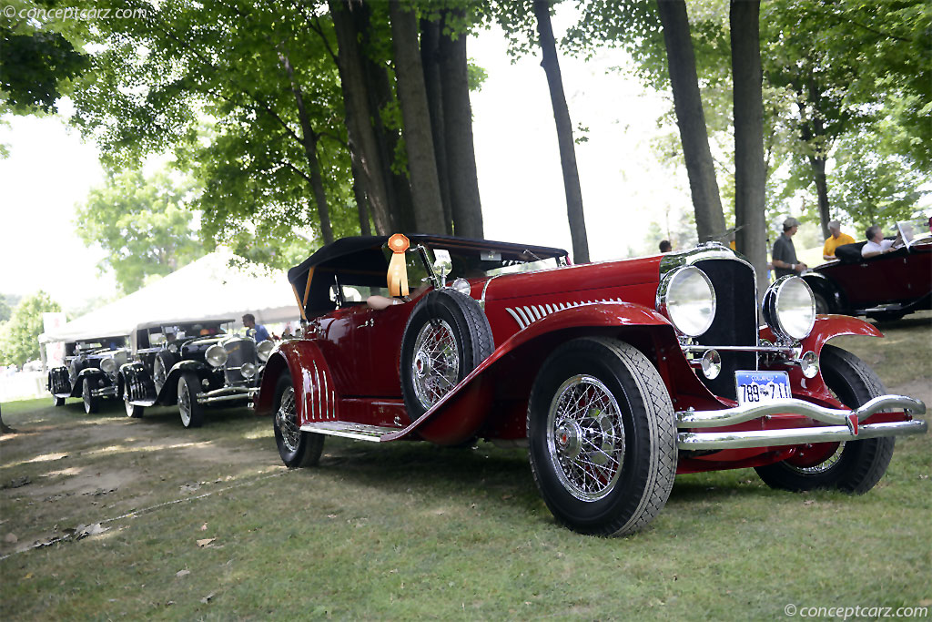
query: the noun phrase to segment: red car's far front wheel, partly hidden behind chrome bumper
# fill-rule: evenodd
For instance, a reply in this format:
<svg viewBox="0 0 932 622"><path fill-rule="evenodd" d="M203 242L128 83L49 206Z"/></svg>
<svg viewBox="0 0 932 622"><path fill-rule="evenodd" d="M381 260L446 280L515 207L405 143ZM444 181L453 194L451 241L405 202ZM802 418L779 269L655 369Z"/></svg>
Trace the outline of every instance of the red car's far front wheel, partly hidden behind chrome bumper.
<svg viewBox="0 0 932 622"><path fill-rule="evenodd" d="M819 365L829 389L849 408L886 394L884 383L873 369L851 352L827 345L822 349ZM836 489L864 494L884 477L894 444L893 437L827 443L820 463L801 465L790 459L755 470L768 486L784 491Z"/></svg>

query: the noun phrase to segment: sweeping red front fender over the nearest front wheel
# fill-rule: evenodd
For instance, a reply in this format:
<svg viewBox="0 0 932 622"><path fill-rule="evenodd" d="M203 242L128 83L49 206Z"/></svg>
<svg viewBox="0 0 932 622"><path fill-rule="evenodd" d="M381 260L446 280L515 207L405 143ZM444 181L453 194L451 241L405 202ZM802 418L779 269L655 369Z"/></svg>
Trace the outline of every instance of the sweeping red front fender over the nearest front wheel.
<svg viewBox="0 0 932 622"><path fill-rule="evenodd" d="M491 404L500 393L497 379L507 379L509 394L527 405L531 383L547 354L564 341L587 335L629 340L646 350L654 347L655 339L676 342L669 321L642 305L598 302L555 311L505 340L418 420L383 440L396 440L415 431L440 445L470 438L487 422ZM520 415L526 410L525 406L514 412Z"/></svg>

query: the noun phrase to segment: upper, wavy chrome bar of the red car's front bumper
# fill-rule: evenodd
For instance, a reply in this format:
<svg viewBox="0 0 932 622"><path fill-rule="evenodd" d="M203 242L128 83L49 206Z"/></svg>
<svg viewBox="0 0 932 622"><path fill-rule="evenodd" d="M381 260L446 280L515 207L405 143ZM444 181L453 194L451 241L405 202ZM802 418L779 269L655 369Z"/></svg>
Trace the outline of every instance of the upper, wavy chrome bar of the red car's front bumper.
<svg viewBox="0 0 932 622"><path fill-rule="evenodd" d="M925 404L906 395L880 395L853 410L825 408L790 397L770 404L745 405L722 410L680 410L677 412L677 427L718 428L779 414L805 415L817 422L846 425L848 415L856 414L857 422L863 422L870 415L888 408L902 408L916 415L925 414Z"/></svg>

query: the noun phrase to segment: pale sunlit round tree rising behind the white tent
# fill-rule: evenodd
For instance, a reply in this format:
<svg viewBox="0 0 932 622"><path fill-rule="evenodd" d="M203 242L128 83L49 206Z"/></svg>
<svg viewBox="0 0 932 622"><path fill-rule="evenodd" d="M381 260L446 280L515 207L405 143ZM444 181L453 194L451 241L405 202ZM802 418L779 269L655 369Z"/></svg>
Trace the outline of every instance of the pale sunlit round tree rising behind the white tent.
<svg viewBox="0 0 932 622"><path fill-rule="evenodd" d="M75 226L86 244L103 246L107 256L100 269L114 270L130 294L147 276L168 274L204 254L191 228L195 199L190 181L175 181L168 173L151 179L139 171L111 175L105 187L89 192Z"/></svg>

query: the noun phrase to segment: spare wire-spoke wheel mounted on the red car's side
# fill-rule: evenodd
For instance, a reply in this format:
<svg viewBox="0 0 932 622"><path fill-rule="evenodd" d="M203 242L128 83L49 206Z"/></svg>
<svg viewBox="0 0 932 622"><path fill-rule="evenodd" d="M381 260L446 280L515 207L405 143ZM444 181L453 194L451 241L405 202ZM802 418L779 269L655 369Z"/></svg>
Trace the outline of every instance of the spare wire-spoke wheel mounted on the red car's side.
<svg viewBox="0 0 932 622"><path fill-rule="evenodd" d="M449 393L494 347L486 313L472 297L441 289L421 298L404 326L399 369L411 420ZM431 350L442 360L429 356Z"/></svg>

